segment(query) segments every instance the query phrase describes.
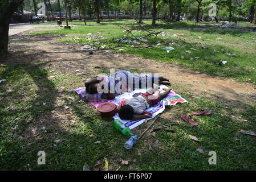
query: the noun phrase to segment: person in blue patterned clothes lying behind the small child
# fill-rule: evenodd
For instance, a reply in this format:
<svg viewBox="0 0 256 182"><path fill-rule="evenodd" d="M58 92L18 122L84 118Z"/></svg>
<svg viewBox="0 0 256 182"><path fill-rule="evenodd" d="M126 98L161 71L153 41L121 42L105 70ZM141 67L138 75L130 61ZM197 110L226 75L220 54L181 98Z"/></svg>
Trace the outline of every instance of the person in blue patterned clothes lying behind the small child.
<svg viewBox="0 0 256 182"><path fill-rule="evenodd" d="M84 83L88 94L87 100L89 101L90 94L91 97L95 97L95 94L101 94L101 98L112 100L124 91L152 88L153 84L170 85L170 82L162 76L139 75L128 71L118 71L109 76L90 78ZM101 93L99 93L99 90L101 90ZM103 93L102 90L104 90Z"/></svg>

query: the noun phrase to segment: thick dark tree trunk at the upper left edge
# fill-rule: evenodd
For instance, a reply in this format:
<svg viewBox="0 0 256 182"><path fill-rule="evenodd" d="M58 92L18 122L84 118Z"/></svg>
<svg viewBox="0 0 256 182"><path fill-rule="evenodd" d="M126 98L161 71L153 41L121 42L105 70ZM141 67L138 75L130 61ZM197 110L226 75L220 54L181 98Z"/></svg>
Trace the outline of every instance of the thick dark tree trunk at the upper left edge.
<svg viewBox="0 0 256 182"><path fill-rule="evenodd" d="M7 3L3 11L0 11L0 56L6 56L9 41L9 23L14 11L17 10L24 0L15 0Z"/></svg>

